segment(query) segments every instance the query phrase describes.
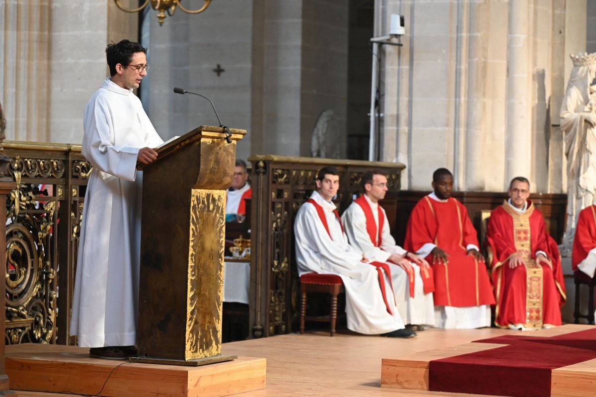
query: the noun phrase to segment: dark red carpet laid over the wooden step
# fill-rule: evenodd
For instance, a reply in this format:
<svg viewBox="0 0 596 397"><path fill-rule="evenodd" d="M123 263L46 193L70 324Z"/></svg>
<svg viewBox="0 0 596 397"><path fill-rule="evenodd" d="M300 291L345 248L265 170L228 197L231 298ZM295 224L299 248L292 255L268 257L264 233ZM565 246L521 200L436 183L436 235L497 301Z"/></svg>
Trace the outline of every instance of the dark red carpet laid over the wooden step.
<svg viewBox="0 0 596 397"><path fill-rule="evenodd" d="M552 369L596 358L596 329L550 338L501 336L474 342L509 346L431 361L430 390L550 396Z"/></svg>

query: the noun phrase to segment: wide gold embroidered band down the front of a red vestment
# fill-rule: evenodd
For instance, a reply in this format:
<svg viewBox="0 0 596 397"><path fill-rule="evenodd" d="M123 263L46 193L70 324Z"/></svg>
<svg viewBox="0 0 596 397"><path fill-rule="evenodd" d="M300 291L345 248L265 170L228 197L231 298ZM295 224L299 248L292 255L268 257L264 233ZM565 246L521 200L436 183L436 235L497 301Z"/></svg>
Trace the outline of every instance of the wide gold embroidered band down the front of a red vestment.
<svg viewBox="0 0 596 397"><path fill-rule="evenodd" d="M522 258L525 263L524 266L526 266L526 324L523 325L532 329L542 328L542 321L544 320L542 285L544 284L544 278L542 277L542 266L531 258L532 253L530 252L530 216L534 212L534 204L530 203L526 212L519 213L511 208L505 200L503 208L513 218L513 238L517 255ZM501 272L499 278L503 275L504 272Z"/></svg>

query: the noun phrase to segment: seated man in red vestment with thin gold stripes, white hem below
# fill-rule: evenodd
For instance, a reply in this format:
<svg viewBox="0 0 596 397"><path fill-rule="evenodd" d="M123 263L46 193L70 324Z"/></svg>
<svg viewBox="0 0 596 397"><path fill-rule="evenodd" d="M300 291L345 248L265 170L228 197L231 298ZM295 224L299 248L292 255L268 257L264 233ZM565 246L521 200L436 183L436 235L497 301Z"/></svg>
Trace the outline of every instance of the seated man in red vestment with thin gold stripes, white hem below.
<svg viewBox="0 0 596 397"><path fill-rule="evenodd" d="M451 197L453 175L448 169L433 173L432 187L412 210L404 248L432 266L435 325L490 327L495 298L476 229L464 205Z"/></svg>

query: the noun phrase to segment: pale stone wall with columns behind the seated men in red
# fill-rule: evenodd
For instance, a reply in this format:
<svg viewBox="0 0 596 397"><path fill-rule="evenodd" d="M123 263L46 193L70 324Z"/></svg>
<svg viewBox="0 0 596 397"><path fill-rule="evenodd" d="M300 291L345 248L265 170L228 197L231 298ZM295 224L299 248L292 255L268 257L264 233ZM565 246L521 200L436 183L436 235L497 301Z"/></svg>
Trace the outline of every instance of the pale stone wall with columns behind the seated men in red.
<svg viewBox="0 0 596 397"><path fill-rule="evenodd" d="M434 169L456 188L502 191L524 175L535 191L564 191L558 109L586 48L586 1L375 0L378 34L405 15L403 46L383 48L380 160L406 164L404 185ZM562 77L566 76L566 77ZM555 125L551 128L551 125Z"/></svg>

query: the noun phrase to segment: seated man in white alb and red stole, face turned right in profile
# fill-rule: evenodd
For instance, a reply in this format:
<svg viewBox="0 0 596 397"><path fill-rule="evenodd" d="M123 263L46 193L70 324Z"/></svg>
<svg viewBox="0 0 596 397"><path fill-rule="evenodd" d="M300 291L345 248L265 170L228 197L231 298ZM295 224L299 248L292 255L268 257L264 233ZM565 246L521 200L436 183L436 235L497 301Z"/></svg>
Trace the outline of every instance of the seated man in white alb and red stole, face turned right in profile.
<svg viewBox="0 0 596 397"><path fill-rule="evenodd" d="M434 283L429 263L395 243L389 220L378 204L387 193L387 177L381 170L362 175L364 194L342 215L347 240L370 260L389 263L399 314L412 328L434 325Z"/></svg>

